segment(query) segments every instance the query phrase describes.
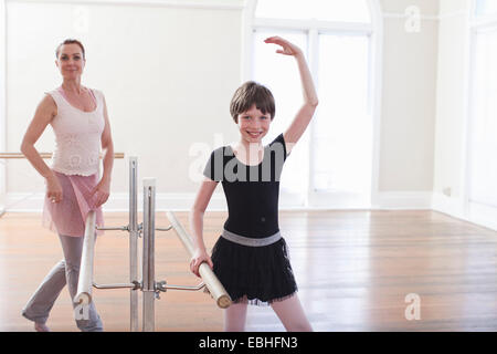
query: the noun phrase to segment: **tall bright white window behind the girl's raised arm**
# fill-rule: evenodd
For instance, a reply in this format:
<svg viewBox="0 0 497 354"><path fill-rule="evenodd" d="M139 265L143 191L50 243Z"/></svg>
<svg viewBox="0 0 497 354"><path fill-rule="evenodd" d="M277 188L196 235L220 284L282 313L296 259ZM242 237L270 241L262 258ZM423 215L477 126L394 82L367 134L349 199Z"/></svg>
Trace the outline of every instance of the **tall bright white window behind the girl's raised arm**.
<svg viewBox="0 0 497 354"><path fill-rule="evenodd" d="M370 206L372 175L372 21L367 0L258 0L252 31L251 77L276 101L271 136L284 132L302 105L295 60L264 43L281 35L303 49L319 106L282 175L282 195L302 205ZM268 142L266 142L267 144ZM353 200L353 201L351 201ZM358 204L356 204L358 205Z"/></svg>

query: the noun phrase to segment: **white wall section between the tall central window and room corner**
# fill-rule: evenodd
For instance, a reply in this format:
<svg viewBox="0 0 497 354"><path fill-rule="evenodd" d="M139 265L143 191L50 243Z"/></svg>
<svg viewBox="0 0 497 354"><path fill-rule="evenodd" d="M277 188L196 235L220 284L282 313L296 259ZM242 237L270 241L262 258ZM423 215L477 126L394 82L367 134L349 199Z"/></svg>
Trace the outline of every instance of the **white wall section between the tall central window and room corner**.
<svg viewBox="0 0 497 354"><path fill-rule="evenodd" d="M383 1L381 191L431 191L437 56L436 1ZM419 32L395 14L417 6ZM430 7L427 7L430 4Z"/></svg>

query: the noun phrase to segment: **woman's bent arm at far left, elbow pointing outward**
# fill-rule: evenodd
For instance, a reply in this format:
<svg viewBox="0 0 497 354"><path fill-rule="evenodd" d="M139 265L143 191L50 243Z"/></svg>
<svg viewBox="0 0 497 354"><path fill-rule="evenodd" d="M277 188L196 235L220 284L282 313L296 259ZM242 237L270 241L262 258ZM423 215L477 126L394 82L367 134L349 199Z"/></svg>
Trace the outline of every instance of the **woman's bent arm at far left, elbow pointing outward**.
<svg viewBox="0 0 497 354"><path fill-rule="evenodd" d="M21 143L21 152L31 165L46 180L46 195L54 202L62 200L62 187L52 169L45 164L40 153L34 147L46 126L57 114L57 106L52 96L45 95L36 107L34 117L31 121Z"/></svg>

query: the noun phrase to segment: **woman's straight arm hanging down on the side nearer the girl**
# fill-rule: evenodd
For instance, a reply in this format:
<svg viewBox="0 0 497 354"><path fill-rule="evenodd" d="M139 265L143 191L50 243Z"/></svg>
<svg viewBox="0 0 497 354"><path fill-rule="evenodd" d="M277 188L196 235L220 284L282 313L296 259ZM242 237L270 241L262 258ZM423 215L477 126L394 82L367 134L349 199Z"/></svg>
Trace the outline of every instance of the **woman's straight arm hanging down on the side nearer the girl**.
<svg viewBox="0 0 497 354"><path fill-rule="evenodd" d="M114 166L114 144L113 144L113 136L110 134L110 124L108 122L107 104L105 102L105 97L104 97L104 121L105 127L101 138L102 150L104 153L103 158L104 174L101 178L101 181L94 189L94 192L97 192L98 198L96 204L97 207L106 202L110 195L110 176Z"/></svg>

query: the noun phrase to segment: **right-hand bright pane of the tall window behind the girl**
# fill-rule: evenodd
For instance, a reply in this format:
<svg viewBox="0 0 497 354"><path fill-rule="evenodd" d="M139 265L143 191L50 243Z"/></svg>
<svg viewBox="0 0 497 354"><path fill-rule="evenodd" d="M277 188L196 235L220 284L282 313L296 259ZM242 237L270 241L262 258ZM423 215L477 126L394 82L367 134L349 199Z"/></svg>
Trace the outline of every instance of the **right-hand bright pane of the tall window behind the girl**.
<svg viewBox="0 0 497 354"><path fill-rule="evenodd" d="M319 49L318 91L326 100L315 122L314 188L369 192L369 39L321 34Z"/></svg>

